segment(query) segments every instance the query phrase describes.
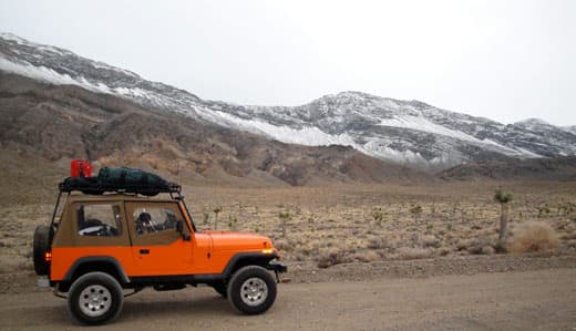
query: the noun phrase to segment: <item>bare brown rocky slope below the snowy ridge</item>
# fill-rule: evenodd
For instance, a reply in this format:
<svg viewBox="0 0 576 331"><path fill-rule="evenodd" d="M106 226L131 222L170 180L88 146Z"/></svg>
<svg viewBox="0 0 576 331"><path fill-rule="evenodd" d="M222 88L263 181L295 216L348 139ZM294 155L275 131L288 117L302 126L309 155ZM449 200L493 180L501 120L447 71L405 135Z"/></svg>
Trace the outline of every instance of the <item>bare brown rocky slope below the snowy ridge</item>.
<svg viewBox="0 0 576 331"><path fill-rule="evenodd" d="M429 178L346 146L300 146L146 108L71 85L0 72L2 177L45 173L47 163L89 158L171 178L257 185L382 183ZM19 161L20 159L20 161ZM35 164L41 166L37 167ZM244 180L244 182L243 182ZM12 183L10 182L10 183Z"/></svg>

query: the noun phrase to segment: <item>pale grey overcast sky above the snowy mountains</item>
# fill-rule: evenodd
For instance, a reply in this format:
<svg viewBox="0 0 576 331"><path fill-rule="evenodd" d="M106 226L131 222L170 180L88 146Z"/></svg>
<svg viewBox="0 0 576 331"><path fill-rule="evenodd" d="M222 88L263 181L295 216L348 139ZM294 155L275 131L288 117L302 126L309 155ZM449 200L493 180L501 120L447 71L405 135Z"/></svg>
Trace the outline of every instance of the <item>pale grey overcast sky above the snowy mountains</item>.
<svg viewBox="0 0 576 331"><path fill-rule="evenodd" d="M204 99L362 91L576 124L576 1L9 1L0 30Z"/></svg>

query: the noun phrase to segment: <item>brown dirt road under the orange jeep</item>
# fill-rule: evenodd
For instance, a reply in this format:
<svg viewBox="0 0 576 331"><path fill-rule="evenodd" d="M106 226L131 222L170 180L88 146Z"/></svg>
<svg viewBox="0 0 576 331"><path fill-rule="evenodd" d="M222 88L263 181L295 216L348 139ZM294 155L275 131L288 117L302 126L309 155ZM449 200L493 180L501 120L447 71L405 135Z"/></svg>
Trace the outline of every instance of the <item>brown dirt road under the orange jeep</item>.
<svg viewBox="0 0 576 331"><path fill-rule="evenodd" d="M110 330L576 330L576 269L287 283L272 309L236 314L212 289L145 290ZM1 330L75 329L49 292L2 294Z"/></svg>

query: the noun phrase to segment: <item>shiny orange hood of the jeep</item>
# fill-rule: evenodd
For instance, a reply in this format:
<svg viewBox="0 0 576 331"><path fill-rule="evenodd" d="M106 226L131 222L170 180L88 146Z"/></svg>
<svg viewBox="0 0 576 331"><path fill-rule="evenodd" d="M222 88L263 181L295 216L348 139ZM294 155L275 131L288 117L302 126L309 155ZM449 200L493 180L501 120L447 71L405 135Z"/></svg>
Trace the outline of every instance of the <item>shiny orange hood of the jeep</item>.
<svg viewBox="0 0 576 331"><path fill-rule="evenodd" d="M214 250L241 250L272 248L270 238L249 232L203 231L212 238Z"/></svg>

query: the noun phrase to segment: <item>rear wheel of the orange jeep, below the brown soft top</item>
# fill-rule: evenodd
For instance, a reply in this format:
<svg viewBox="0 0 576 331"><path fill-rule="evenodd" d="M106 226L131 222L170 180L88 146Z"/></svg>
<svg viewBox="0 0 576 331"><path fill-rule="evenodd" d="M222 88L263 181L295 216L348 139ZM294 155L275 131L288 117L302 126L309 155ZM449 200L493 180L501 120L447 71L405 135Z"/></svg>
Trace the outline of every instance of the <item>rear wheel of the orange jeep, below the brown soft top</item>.
<svg viewBox="0 0 576 331"><path fill-rule="evenodd" d="M124 304L122 287L104 272L89 272L76 279L68 292L68 313L79 324L97 325L114 321Z"/></svg>

